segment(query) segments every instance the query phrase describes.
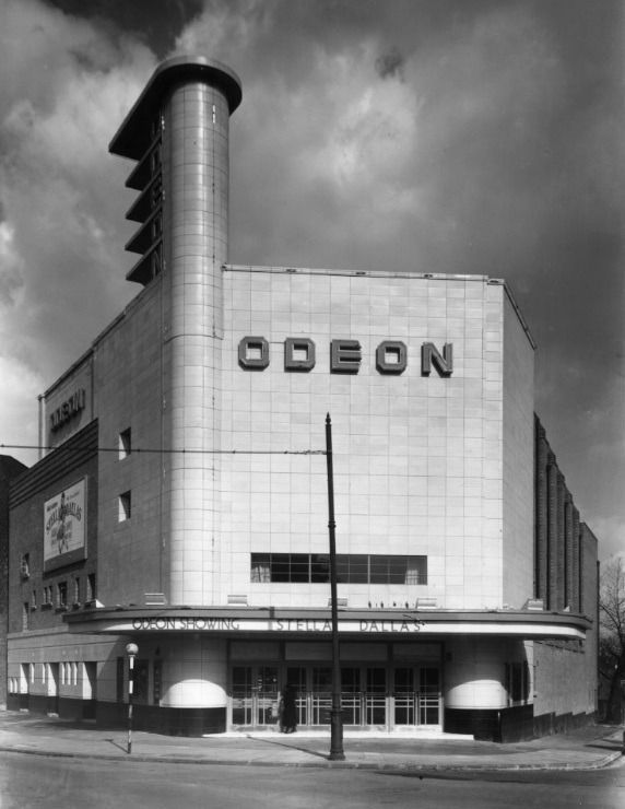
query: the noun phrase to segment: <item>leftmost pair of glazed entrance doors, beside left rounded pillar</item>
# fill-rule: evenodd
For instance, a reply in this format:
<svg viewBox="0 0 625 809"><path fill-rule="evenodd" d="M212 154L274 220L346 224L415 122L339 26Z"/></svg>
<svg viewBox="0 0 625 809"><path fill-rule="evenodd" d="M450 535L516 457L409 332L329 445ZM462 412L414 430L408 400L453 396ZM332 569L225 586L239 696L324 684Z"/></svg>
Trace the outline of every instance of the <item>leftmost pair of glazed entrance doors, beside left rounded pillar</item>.
<svg viewBox="0 0 625 809"><path fill-rule="evenodd" d="M273 725L278 666L233 666L233 725Z"/></svg>

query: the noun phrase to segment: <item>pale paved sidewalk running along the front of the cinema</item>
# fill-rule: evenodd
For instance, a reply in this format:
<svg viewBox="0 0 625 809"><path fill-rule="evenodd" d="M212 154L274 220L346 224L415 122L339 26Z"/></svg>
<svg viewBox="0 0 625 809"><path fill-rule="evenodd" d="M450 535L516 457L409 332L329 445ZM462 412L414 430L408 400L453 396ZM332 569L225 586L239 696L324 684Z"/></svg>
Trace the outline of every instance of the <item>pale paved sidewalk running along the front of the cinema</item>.
<svg viewBox="0 0 625 809"><path fill-rule="evenodd" d="M0 750L36 755L167 761L257 766L356 767L368 770L594 770L621 757L623 728L597 725L532 741L497 744L444 734L344 732L345 761L329 761L330 734L275 731L220 734L201 739L99 729L90 723L0 712Z"/></svg>

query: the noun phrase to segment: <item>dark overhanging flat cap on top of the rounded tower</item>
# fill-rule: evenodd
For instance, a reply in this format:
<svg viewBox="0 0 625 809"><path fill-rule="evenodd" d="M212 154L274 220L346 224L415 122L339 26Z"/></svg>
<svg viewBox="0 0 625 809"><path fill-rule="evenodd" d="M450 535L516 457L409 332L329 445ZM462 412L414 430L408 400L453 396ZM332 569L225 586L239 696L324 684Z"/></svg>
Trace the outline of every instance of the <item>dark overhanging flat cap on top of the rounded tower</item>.
<svg viewBox="0 0 625 809"><path fill-rule="evenodd" d="M108 145L121 157L140 160L150 145L150 121L160 114L167 92L181 83L200 81L220 87L228 102L231 115L243 97L238 75L227 66L203 56L176 56L162 62L128 113Z"/></svg>

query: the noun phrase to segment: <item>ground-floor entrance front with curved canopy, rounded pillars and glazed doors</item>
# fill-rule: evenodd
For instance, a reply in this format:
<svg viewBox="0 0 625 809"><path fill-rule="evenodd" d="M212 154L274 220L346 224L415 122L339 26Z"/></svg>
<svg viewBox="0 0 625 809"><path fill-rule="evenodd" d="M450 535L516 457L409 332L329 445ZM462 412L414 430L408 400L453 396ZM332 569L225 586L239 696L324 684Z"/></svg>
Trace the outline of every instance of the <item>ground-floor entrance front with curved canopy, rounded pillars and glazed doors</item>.
<svg viewBox="0 0 625 809"><path fill-rule="evenodd" d="M329 725L328 610L117 608L66 620L71 631L115 634L120 645L139 646L138 720L144 716L153 729L274 729L287 684L300 729ZM532 640L582 648L588 624L570 613L341 611L343 726L474 732L504 714L529 715ZM119 680L118 699L123 691Z"/></svg>

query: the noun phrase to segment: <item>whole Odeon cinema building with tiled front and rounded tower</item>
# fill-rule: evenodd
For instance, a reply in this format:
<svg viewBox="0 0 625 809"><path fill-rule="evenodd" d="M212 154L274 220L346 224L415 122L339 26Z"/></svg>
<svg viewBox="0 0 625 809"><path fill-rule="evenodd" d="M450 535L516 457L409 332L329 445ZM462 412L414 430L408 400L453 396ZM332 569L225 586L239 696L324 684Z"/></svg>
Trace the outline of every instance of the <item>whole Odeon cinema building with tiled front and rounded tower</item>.
<svg viewBox="0 0 625 809"><path fill-rule="evenodd" d="M8 705L170 734L328 722L326 417L345 728L517 739L595 708L597 540L500 280L228 263L226 67L113 138L137 296L40 397L10 488ZM453 271L461 268L452 268Z"/></svg>

